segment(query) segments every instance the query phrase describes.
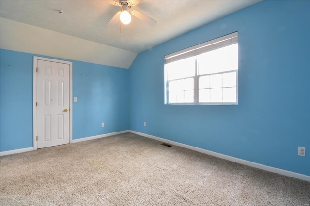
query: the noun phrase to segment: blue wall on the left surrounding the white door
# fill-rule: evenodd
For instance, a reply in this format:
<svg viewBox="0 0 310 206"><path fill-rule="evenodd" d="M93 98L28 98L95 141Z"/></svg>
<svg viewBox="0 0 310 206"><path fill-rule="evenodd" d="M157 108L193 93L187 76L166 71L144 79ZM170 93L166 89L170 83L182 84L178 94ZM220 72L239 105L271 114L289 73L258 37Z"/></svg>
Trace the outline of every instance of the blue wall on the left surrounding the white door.
<svg viewBox="0 0 310 206"><path fill-rule="evenodd" d="M0 151L33 147L33 56L40 55L0 52ZM129 71L68 61L73 62L73 97L78 97L73 102L73 139L128 130Z"/></svg>

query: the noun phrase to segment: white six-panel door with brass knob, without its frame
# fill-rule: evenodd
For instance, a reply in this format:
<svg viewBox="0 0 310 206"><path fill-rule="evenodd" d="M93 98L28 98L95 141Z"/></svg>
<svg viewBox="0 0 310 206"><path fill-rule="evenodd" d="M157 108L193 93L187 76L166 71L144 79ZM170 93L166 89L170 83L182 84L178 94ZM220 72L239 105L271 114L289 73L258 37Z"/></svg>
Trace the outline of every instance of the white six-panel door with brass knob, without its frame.
<svg viewBox="0 0 310 206"><path fill-rule="evenodd" d="M37 60L37 148L69 143L69 64Z"/></svg>

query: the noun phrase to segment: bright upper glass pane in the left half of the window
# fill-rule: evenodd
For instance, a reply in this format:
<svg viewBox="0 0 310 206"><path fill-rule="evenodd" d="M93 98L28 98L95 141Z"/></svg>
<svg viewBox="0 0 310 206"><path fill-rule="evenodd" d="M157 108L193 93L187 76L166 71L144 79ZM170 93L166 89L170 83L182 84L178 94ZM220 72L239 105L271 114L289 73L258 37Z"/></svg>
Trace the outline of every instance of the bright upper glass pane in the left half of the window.
<svg viewBox="0 0 310 206"><path fill-rule="evenodd" d="M171 62L167 64L167 80L194 76L195 67L195 57Z"/></svg>

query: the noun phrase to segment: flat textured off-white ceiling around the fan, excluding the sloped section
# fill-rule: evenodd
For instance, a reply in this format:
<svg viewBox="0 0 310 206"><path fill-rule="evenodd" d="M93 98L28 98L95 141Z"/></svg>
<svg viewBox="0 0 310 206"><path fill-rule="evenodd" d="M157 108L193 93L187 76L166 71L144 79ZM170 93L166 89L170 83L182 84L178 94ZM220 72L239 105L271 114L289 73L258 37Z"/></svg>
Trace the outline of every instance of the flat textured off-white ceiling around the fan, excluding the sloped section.
<svg viewBox="0 0 310 206"><path fill-rule="evenodd" d="M120 23L107 26L121 9L112 5L112 0L1 0L0 16L139 53L257 2L144 0L132 7L155 19L157 24L153 27L135 16L132 28Z"/></svg>

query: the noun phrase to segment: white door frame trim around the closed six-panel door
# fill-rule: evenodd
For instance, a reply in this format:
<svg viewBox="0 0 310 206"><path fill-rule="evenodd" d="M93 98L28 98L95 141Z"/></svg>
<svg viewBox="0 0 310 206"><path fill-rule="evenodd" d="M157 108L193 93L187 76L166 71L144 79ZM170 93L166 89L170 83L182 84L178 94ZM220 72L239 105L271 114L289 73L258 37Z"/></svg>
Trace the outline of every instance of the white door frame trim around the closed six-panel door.
<svg viewBox="0 0 310 206"><path fill-rule="evenodd" d="M33 149L38 148L37 144L37 63L38 60L52 61L62 64L69 64L69 144L72 143L72 62L59 59L49 59L33 56Z"/></svg>

